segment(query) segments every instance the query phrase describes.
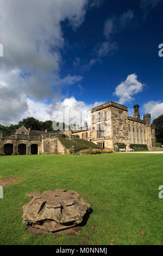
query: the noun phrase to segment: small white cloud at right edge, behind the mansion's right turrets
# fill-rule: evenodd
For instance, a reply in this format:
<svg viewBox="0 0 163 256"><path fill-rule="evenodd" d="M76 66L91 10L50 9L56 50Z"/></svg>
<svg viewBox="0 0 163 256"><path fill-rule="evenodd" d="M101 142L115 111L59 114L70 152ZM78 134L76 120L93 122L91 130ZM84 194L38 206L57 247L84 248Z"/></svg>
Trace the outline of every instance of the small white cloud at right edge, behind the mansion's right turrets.
<svg viewBox="0 0 163 256"><path fill-rule="evenodd" d="M150 113L152 119L159 117L163 114L163 102L161 101L148 101L143 105L145 113Z"/></svg>

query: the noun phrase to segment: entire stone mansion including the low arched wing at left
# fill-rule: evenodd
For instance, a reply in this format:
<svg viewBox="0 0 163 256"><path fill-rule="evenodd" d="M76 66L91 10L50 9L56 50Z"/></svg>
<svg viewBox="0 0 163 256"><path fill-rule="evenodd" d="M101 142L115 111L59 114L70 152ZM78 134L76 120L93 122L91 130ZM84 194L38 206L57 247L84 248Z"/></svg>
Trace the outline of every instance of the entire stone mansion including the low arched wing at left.
<svg viewBox="0 0 163 256"><path fill-rule="evenodd" d="M140 119L139 105L134 105L134 116L128 115L128 108L109 101L91 109L91 127L85 122L84 128L74 131L47 132L27 129L22 126L14 133L0 133L0 153L25 154L66 154L68 149L60 138L86 139L105 149L115 149L116 143L147 144L155 148L155 126L151 125L151 114ZM77 127L77 125L76 125Z"/></svg>

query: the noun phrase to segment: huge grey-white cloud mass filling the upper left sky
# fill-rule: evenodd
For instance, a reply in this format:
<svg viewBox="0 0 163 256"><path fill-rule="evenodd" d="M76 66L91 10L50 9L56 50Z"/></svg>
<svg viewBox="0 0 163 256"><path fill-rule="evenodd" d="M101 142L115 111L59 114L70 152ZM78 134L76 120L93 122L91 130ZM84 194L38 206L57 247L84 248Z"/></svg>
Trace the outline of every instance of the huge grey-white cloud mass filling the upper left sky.
<svg viewBox="0 0 163 256"><path fill-rule="evenodd" d="M65 46L61 22L77 29L87 4L87 0L66 0L66 4L65 0L1 0L1 124L14 123L28 113L34 107L28 97L34 102L46 102L47 97L55 101L64 84L82 80L71 74L60 77L60 51Z"/></svg>

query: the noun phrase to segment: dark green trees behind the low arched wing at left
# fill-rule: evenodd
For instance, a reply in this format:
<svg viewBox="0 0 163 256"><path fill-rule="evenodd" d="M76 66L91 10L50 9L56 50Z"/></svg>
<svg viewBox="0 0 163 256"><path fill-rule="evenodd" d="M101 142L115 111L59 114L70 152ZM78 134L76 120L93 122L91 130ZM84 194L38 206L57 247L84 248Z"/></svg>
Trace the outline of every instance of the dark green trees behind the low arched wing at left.
<svg viewBox="0 0 163 256"><path fill-rule="evenodd" d="M53 130L53 121L51 120L47 120L45 122L39 121L33 117L27 117L24 118L22 121L18 122L17 125L10 125L10 126L4 126L0 124L0 133L13 133L16 131L16 129L18 129L19 127L21 127L22 125L24 125L27 129L30 128L30 130L41 130L44 131L45 129L47 131L54 131ZM57 126L59 125L59 123L57 123ZM65 128L65 124L63 123L63 127Z"/></svg>

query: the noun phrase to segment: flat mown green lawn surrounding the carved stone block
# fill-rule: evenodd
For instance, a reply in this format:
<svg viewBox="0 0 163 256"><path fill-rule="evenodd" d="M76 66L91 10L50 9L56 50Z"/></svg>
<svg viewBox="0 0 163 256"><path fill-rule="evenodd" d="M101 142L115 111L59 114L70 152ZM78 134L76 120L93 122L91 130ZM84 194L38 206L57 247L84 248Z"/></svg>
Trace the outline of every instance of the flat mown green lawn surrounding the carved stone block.
<svg viewBox="0 0 163 256"><path fill-rule="evenodd" d="M163 157L155 154L0 157L0 178L21 176L0 199L1 245L163 245ZM22 224L26 194L66 188L93 209L77 236L29 235ZM97 225L95 229L92 226ZM145 235L141 234L141 231Z"/></svg>

